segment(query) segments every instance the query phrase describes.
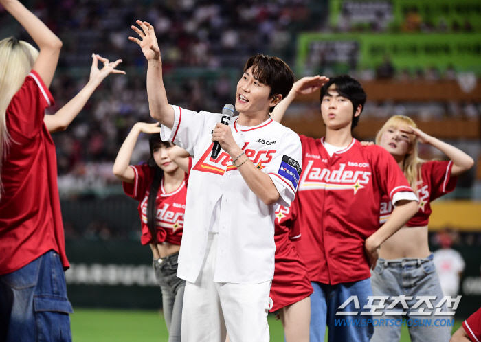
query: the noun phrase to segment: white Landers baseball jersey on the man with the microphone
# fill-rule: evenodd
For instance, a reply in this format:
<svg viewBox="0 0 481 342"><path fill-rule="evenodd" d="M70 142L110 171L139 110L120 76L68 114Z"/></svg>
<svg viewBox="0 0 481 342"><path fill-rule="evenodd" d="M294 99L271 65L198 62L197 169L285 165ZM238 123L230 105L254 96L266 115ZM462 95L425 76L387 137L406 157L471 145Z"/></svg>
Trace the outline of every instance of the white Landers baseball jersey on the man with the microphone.
<svg viewBox="0 0 481 342"><path fill-rule="evenodd" d="M269 174L280 194L277 203L265 205L252 192L227 152L210 157L212 130L221 114L199 113L172 106L172 130L161 127L161 138L173 141L194 156L184 216L183 237L177 276L195 282L202 268L214 206L221 198L219 248L214 282L258 284L273 278L274 214L278 205L289 207L297 190L302 149L299 136L269 119L258 126L244 127L236 117L230 122L232 135L245 155ZM244 160L240 157L237 163Z"/></svg>

